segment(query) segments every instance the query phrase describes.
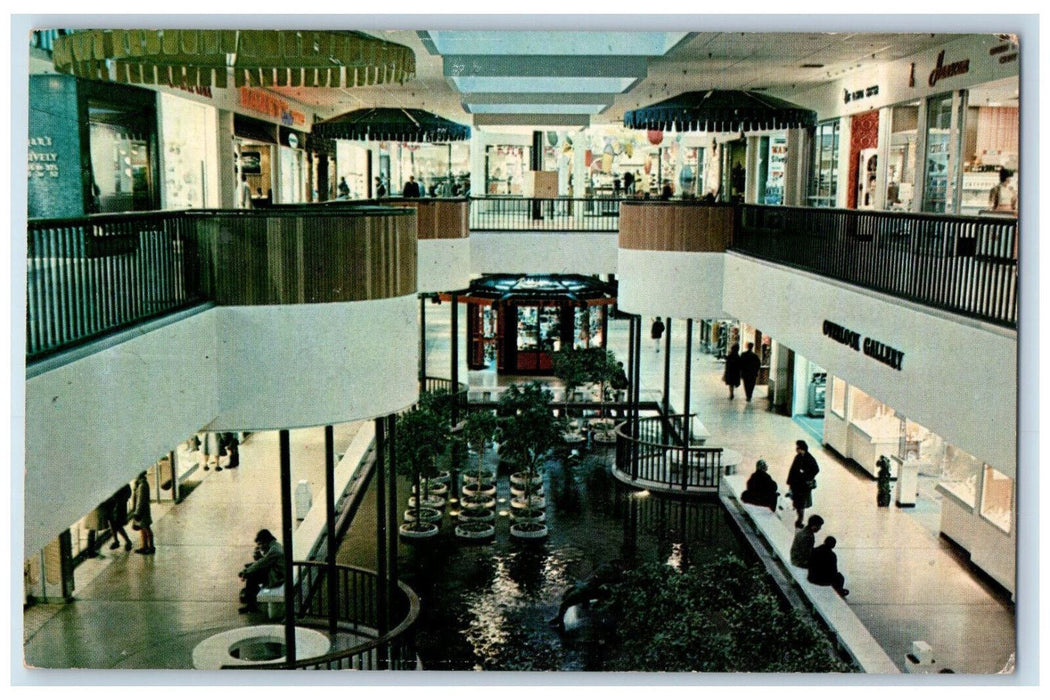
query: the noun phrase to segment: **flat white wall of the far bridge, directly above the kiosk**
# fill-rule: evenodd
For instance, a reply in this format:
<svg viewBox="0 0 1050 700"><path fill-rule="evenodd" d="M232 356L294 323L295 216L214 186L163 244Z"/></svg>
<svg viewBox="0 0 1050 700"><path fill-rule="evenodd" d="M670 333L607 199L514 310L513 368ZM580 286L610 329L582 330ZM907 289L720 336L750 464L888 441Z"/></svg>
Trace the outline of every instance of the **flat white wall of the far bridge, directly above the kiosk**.
<svg viewBox="0 0 1050 700"><path fill-rule="evenodd" d="M471 231L470 272L612 275L616 273L616 233Z"/></svg>

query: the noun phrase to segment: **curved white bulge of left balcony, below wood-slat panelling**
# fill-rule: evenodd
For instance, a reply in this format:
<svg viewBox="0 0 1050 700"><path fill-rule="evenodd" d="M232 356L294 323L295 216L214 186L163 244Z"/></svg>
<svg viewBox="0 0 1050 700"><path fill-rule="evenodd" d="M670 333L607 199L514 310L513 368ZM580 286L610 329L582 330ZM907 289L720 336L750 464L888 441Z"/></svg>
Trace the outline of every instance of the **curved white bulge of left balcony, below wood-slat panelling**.
<svg viewBox="0 0 1050 700"><path fill-rule="evenodd" d="M225 306L218 411L209 430L343 423L418 398L415 295L326 304Z"/></svg>

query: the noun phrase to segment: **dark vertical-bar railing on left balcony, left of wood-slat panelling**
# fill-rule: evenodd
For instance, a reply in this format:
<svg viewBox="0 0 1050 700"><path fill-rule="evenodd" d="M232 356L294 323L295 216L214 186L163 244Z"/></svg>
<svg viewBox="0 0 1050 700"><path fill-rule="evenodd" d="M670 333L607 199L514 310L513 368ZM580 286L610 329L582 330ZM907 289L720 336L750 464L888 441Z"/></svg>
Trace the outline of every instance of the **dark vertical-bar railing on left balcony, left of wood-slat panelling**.
<svg viewBox="0 0 1050 700"><path fill-rule="evenodd" d="M25 354L44 357L203 301L184 212L30 219Z"/></svg>

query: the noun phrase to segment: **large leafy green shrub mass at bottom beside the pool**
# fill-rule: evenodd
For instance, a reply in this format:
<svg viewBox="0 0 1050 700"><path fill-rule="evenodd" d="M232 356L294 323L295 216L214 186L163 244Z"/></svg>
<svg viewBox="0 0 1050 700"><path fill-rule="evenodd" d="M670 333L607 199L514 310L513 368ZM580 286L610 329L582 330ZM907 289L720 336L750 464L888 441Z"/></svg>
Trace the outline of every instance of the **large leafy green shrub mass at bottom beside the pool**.
<svg viewBox="0 0 1050 700"><path fill-rule="evenodd" d="M610 671L847 673L828 639L735 556L625 573L598 612L615 620Z"/></svg>

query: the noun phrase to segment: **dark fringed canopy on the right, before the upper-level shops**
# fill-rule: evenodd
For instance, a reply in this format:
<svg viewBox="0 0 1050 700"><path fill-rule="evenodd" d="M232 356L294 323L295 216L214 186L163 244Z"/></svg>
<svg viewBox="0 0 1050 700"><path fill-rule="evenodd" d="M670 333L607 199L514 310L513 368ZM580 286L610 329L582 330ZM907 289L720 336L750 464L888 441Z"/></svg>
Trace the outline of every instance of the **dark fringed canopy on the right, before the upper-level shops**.
<svg viewBox="0 0 1050 700"><path fill-rule="evenodd" d="M751 90L699 90L624 113L624 126L656 131L763 131L817 124L817 112Z"/></svg>

